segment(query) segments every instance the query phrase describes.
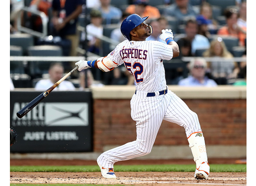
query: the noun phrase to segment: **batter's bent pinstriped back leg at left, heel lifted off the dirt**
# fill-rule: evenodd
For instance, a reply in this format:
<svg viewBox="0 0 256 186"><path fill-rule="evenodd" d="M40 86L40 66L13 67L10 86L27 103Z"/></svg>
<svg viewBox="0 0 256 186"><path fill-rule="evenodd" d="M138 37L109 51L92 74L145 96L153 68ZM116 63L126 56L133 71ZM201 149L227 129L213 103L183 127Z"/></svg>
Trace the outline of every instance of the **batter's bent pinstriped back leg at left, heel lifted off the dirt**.
<svg viewBox="0 0 256 186"><path fill-rule="evenodd" d="M131 117L136 121L137 138L133 142L103 152L97 158L97 163L101 169L102 167L113 168L117 161L129 160L151 152L165 111L161 110L162 107L158 105L159 101L154 98L147 99L143 101L136 97L131 99ZM103 175L103 177L115 176Z"/></svg>

